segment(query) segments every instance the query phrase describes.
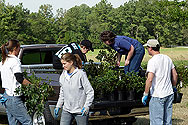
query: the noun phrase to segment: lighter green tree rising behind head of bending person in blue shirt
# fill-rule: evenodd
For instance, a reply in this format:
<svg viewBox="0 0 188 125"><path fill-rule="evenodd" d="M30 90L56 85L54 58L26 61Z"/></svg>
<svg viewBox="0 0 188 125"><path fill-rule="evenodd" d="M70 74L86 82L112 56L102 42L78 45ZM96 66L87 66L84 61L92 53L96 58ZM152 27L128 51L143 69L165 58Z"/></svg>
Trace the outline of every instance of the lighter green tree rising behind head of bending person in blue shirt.
<svg viewBox="0 0 188 125"><path fill-rule="evenodd" d="M109 13L113 10L112 5L107 0L101 0L96 4L87 18L89 23L89 38L94 42L96 48L101 48L102 43L99 40L99 34L104 30L111 30Z"/></svg>

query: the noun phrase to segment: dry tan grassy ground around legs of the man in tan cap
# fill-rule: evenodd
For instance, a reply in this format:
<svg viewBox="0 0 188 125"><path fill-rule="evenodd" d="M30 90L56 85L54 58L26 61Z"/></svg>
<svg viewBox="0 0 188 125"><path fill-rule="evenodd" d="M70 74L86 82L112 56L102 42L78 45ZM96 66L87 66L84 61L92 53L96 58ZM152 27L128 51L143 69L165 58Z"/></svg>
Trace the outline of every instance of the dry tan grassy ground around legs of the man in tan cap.
<svg viewBox="0 0 188 125"><path fill-rule="evenodd" d="M173 104L173 125L188 125L188 88L181 91L183 98L181 103ZM137 121L133 125L149 125L149 115L136 117Z"/></svg>

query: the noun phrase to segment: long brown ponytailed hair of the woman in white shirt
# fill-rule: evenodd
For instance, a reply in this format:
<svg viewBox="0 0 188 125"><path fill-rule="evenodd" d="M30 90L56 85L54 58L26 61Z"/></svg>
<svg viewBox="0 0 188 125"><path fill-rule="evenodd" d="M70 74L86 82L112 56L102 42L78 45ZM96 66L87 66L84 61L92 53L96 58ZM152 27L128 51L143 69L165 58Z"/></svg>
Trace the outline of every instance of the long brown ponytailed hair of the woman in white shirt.
<svg viewBox="0 0 188 125"><path fill-rule="evenodd" d="M9 40L7 43L1 46L2 51L2 64L4 64L6 58L8 57L9 52L13 52L14 48L18 48L20 46L18 40Z"/></svg>

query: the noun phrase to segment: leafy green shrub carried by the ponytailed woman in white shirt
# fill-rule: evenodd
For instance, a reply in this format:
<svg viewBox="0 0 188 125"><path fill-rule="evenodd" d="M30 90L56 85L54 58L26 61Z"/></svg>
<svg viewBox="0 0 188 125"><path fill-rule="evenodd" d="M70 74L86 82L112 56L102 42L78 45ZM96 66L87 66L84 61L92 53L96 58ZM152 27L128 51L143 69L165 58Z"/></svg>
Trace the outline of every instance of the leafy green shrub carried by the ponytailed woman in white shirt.
<svg viewBox="0 0 188 125"><path fill-rule="evenodd" d="M48 84L51 80L39 78L34 73L29 76L24 72L24 76L32 84L28 86L21 85L21 87L16 89L16 93L24 96L29 114L37 112L40 115L44 112L44 104L47 101L47 97L54 94L52 86Z"/></svg>

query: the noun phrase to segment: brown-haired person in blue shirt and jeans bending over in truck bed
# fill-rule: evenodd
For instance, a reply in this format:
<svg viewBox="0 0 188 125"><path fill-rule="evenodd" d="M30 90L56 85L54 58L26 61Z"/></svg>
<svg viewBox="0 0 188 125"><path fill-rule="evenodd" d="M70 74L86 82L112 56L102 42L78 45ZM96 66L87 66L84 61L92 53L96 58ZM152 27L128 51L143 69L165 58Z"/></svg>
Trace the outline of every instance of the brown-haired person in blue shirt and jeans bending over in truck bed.
<svg viewBox="0 0 188 125"><path fill-rule="evenodd" d="M106 44L117 51L117 66L120 66L122 55L125 56L124 71L139 72L142 59L145 54L143 45L136 39L127 36L118 36L111 31L104 31L100 34L100 39Z"/></svg>

